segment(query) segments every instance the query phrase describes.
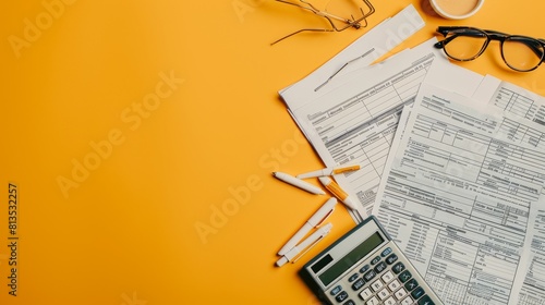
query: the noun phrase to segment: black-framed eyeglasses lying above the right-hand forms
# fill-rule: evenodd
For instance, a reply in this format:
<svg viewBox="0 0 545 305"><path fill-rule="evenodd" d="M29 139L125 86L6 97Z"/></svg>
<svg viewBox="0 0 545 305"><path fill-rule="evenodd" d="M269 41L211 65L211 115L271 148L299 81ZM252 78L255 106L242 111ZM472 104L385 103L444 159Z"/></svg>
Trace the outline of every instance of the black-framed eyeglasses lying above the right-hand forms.
<svg viewBox="0 0 545 305"><path fill-rule="evenodd" d="M445 39L434 46L443 49L453 60L476 59L488 47L491 40L499 41L501 58L512 70L529 72L545 60L545 39L469 26L439 26L437 32L445 36Z"/></svg>

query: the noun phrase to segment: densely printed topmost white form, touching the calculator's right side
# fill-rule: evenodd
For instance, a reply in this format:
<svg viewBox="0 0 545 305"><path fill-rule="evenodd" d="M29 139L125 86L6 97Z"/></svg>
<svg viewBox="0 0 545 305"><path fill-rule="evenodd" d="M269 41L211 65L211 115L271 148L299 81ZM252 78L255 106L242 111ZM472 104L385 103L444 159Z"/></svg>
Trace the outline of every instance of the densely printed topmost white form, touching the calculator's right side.
<svg viewBox="0 0 545 305"><path fill-rule="evenodd" d="M421 86L373 212L446 304L513 304L545 156L463 99Z"/></svg>

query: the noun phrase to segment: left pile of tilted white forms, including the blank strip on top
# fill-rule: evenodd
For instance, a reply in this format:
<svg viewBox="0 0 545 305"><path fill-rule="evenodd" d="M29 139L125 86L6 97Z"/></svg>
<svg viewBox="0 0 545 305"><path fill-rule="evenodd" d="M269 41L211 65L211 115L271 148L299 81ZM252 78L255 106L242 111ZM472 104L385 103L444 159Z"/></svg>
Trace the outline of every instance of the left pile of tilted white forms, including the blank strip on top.
<svg viewBox="0 0 545 305"><path fill-rule="evenodd" d="M434 39L371 65L424 26L413 5L372 28L280 96L327 167L361 163L336 175L356 198L355 221L368 215L403 105L412 102L428 66L437 58Z"/></svg>

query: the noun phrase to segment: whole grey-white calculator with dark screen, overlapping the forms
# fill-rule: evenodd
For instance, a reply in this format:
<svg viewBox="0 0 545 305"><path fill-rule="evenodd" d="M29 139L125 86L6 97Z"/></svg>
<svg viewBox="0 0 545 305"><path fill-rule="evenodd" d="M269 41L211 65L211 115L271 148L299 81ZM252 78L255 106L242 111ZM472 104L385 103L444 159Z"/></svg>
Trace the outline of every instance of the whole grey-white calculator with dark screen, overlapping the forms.
<svg viewBox="0 0 545 305"><path fill-rule="evenodd" d="M374 216L311 259L299 273L328 304L443 304Z"/></svg>

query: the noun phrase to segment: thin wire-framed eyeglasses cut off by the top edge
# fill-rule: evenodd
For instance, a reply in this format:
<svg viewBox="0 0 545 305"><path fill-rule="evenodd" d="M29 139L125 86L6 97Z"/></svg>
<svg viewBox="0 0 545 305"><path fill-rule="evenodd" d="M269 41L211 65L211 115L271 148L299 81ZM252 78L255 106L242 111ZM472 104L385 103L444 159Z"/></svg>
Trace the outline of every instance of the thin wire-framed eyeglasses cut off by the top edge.
<svg viewBox="0 0 545 305"><path fill-rule="evenodd" d="M365 4L366 9L364 10L362 7L360 7L360 12L361 12L361 16L359 16L358 19L354 19L353 15L350 15L349 19L347 17L341 17L341 16L338 16L336 14L332 14L332 13L329 13L327 12L326 10L319 10L317 9L315 5L313 5L312 3L310 3L308 1L306 0L300 0L300 2L302 4L299 4L299 3L294 3L294 2L290 2L290 1L287 1L287 0L275 0L277 2L281 2L281 3L286 3L286 4L290 4L290 5L294 5L294 7L298 7L300 9L303 9L303 10L306 10L306 11L310 11L312 13L314 13L315 15L317 16L320 16L320 17L324 17L327 20L327 22L329 23L329 25L331 26L331 28L302 28L302 29L299 29L299 30L295 30L289 35L286 35L283 36L282 38L278 39L278 40L275 40L274 42L271 42L270 45L275 45L286 38L289 38L295 34L299 34L299 33L302 33L302 32L342 32L349 27L353 27L353 28L361 28L362 27L362 22L364 22L364 25L363 27L366 27L367 26L367 17L371 16L374 12L375 12L375 8L373 7L373 4L371 4L371 2L368 0L362 0L363 3ZM341 0L338 0L338 1L341 1ZM365 13L365 11L368 11L367 13ZM341 24L344 24L342 26L338 26L336 25L336 22L340 22Z"/></svg>

